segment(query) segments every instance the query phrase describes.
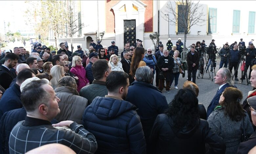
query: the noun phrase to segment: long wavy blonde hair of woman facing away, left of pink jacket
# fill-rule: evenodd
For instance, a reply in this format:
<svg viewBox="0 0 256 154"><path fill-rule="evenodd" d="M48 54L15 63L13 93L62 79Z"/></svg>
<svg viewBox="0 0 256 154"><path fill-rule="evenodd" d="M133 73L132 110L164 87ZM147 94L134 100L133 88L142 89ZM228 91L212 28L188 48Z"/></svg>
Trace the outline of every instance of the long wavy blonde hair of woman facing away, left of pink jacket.
<svg viewBox="0 0 256 154"><path fill-rule="evenodd" d="M64 74L63 66L60 66L60 65L53 66L50 73L53 76L50 82L52 83L53 89L55 89L58 85L59 79L61 79L62 75Z"/></svg>

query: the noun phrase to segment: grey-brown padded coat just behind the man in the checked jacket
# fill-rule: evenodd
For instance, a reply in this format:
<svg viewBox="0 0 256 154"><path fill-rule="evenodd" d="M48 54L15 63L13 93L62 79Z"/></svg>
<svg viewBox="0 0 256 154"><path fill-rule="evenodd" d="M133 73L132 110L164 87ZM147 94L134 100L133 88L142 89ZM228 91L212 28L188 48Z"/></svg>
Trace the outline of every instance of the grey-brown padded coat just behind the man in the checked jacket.
<svg viewBox="0 0 256 154"><path fill-rule="evenodd" d="M72 120L77 124L82 124L82 115L87 107L88 100L75 95L67 87L57 87L54 91L60 99L60 113L55 119L58 121Z"/></svg>

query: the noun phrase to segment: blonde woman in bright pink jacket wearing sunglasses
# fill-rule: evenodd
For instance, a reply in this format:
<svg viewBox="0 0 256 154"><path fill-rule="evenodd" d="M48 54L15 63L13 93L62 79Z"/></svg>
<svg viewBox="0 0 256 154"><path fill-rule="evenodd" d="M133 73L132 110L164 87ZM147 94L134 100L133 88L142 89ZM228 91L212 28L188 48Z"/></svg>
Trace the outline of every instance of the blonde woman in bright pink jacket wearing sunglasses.
<svg viewBox="0 0 256 154"><path fill-rule="evenodd" d="M74 56L71 67L70 72L78 77L77 91L79 92L82 87L90 84L89 80L86 78L86 70L82 66L82 59L79 56Z"/></svg>

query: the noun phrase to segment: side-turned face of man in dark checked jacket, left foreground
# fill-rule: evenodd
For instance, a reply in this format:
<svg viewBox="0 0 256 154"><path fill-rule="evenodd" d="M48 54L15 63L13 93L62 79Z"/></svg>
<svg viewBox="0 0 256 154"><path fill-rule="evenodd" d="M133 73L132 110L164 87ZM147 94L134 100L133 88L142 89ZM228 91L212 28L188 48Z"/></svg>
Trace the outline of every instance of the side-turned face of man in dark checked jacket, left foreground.
<svg viewBox="0 0 256 154"><path fill-rule="evenodd" d="M60 99L56 96L53 90L53 87L51 87L50 85L45 84L42 86L42 88L44 88L50 94L49 102L47 105L47 118L49 120L52 120L53 118L56 117L57 114L60 113L60 109L58 105L58 102L60 101Z"/></svg>

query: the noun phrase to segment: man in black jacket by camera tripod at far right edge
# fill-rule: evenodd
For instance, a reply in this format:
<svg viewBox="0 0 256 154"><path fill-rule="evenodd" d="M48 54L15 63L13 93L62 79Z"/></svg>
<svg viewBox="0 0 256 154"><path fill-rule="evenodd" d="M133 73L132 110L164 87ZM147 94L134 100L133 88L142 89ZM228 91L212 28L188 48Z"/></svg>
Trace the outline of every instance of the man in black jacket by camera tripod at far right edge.
<svg viewBox="0 0 256 154"><path fill-rule="evenodd" d="M247 69L249 68L249 66L250 66L250 71L249 71L249 76L248 76L248 79L250 79L251 78L251 67L252 67L252 65L251 65L251 60L253 59L253 58L255 58L255 56L256 56L256 49L255 49L255 47L254 47L254 45L251 43L250 45L249 45L249 48L246 48L246 53L245 53L245 66L246 66L246 72L244 72L244 75L243 75L243 77L241 78L241 80L243 79L245 79L245 73L247 73Z"/></svg>

